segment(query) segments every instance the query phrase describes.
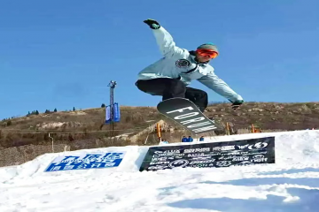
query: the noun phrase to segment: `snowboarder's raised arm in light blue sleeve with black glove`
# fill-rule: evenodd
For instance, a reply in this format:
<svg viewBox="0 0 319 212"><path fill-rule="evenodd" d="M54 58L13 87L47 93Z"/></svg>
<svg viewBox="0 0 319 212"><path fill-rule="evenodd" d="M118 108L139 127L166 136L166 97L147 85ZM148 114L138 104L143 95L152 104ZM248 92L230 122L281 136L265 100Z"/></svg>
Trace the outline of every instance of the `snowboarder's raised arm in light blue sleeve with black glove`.
<svg viewBox="0 0 319 212"><path fill-rule="evenodd" d="M159 25L159 22L153 19L144 20L148 26L152 28L156 42L159 45L159 50L164 57L188 57L189 51L181 49L175 45L173 37L167 32L164 27Z"/></svg>

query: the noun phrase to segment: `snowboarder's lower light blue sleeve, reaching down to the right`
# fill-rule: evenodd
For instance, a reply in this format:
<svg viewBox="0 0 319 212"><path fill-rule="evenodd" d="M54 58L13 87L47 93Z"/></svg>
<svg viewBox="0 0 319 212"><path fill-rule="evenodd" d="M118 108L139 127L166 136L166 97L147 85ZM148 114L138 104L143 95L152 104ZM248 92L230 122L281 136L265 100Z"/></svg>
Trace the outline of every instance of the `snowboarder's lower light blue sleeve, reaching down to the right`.
<svg viewBox="0 0 319 212"><path fill-rule="evenodd" d="M204 84L206 87L211 88L219 95L222 95L230 102L244 102L243 97L237 95L237 93L232 90L229 85L226 84L222 79L217 77L214 72L209 72L206 76L198 79L199 82Z"/></svg>

